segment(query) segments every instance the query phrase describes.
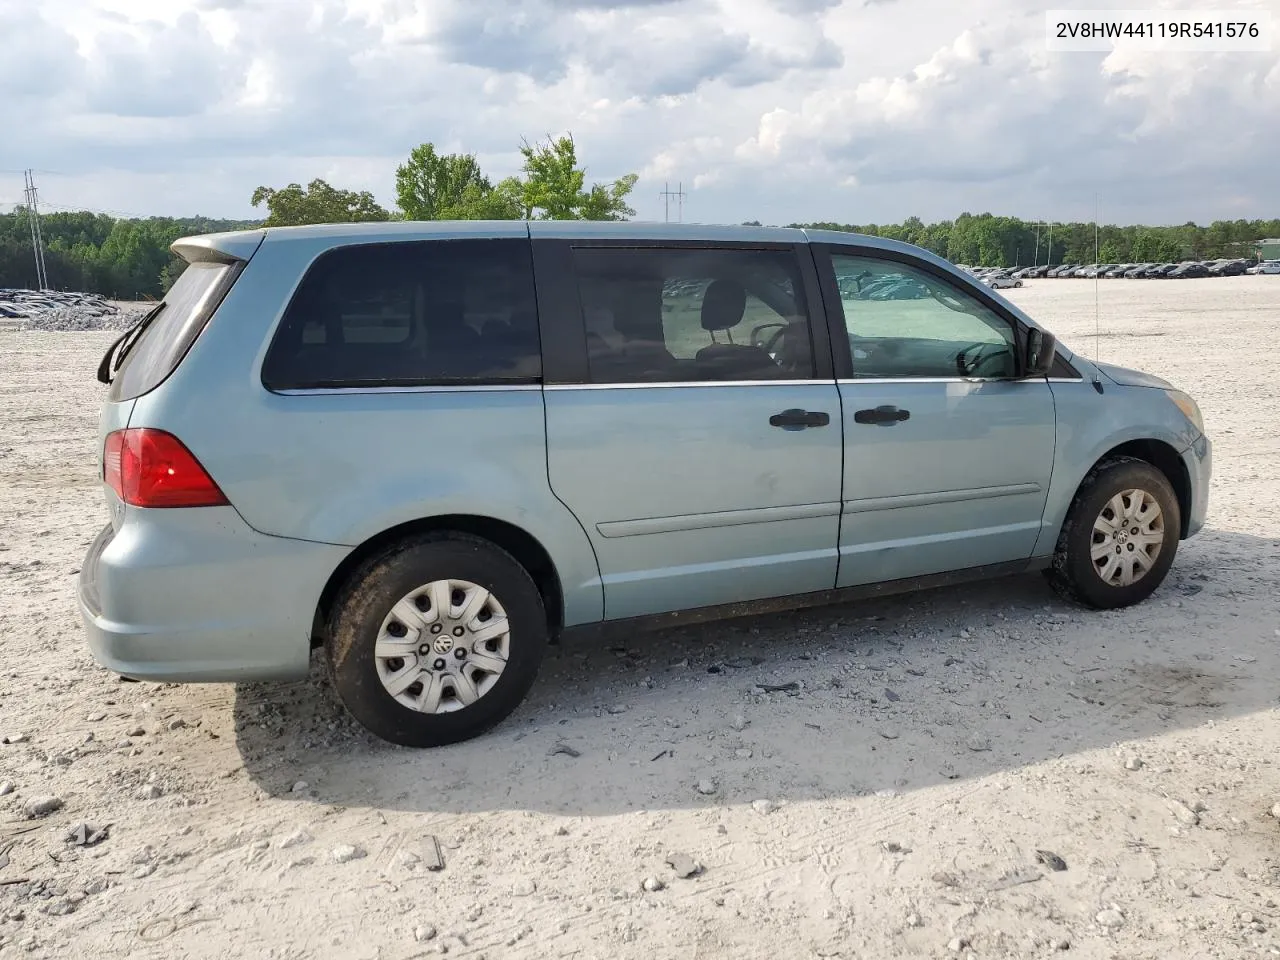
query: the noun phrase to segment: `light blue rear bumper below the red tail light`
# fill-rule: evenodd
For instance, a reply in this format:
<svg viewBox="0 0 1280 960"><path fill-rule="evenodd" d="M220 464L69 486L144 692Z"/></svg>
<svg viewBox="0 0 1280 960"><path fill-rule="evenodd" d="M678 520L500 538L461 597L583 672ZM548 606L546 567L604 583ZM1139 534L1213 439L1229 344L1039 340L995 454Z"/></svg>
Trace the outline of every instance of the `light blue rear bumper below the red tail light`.
<svg viewBox="0 0 1280 960"><path fill-rule="evenodd" d="M348 550L264 536L232 507L129 508L81 566L90 650L140 680L303 677L316 603Z"/></svg>

